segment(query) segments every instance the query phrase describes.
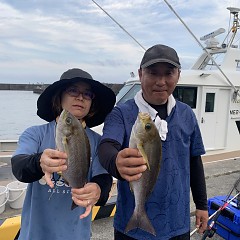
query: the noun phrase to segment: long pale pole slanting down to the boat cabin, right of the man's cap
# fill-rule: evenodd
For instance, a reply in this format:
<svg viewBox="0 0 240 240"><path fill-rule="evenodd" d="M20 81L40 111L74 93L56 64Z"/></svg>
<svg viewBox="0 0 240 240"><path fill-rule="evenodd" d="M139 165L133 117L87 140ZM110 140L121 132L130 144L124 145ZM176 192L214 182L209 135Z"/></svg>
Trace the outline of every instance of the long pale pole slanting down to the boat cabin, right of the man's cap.
<svg viewBox="0 0 240 240"><path fill-rule="evenodd" d="M217 69L222 73L222 75L226 78L227 82L229 83L229 85L234 89L234 92L240 96L238 89L232 84L232 82L228 79L228 77L226 76L226 74L222 71L222 69L218 66L218 64L216 63L216 61L213 59L213 57L211 56L211 54L207 51L207 49L201 44L201 42L197 39L197 37L193 34L193 32L190 30L190 28L186 25L186 23L181 19L181 17L176 13L176 11L173 9L173 7L168 3L167 0L164 0L164 2L167 4L167 6L170 8L170 10L172 10L172 12L177 16L177 18L181 21L181 23L186 27L186 29L188 30L188 32L193 36L193 38L197 41L197 43L199 44L199 46L202 48L202 50L204 50L207 54L207 56L211 59L211 61L214 63L214 65L217 67Z"/></svg>

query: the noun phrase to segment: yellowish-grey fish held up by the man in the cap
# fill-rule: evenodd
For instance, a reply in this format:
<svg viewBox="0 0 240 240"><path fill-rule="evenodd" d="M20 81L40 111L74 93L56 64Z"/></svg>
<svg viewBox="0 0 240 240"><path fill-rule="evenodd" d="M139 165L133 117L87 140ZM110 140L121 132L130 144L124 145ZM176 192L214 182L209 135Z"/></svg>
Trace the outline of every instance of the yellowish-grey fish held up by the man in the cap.
<svg viewBox="0 0 240 240"><path fill-rule="evenodd" d="M125 233L140 228L154 236L156 231L145 210L145 203L153 191L162 162L162 142L159 132L148 113L140 112L132 127L129 147L137 148L143 156L147 169L137 181L129 183L134 195L135 207Z"/></svg>

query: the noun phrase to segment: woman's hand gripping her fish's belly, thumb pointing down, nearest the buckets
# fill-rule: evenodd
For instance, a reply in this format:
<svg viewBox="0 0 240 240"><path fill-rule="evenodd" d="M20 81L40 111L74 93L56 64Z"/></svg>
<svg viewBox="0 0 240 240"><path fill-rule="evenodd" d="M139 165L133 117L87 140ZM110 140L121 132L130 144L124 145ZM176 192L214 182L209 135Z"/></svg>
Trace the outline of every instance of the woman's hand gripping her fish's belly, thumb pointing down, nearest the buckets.
<svg viewBox="0 0 240 240"><path fill-rule="evenodd" d="M45 180L49 187L53 188L54 184L51 175L54 172L61 172L67 169L67 154L54 149L45 149L40 158L40 166L45 173Z"/></svg>

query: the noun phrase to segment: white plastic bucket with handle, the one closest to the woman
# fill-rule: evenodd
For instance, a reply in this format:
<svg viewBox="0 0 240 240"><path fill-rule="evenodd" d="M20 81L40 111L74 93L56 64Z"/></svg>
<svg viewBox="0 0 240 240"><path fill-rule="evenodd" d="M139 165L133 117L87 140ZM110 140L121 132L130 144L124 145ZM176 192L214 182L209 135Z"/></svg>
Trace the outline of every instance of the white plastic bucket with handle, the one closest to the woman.
<svg viewBox="0 0 240 240"><path fill-rule="evenodd" d="M8 202L11 208L20 209L23 207L23 201L26 196L27 183L19 181L11 182L7 185Z"/></svg>

